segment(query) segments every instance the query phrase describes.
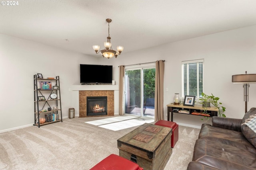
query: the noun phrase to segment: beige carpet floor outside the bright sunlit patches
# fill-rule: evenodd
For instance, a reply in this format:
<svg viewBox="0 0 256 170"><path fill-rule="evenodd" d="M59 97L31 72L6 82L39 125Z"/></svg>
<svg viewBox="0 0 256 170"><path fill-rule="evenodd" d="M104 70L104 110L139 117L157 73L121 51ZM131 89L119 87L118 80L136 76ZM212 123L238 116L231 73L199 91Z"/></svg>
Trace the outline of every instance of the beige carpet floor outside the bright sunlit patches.
<svg viewBox="0 0 256 170"><path fill-rule="evenodd" d="M1 170L88 170L109 154L119 154L117 139L138 126L112 131L85 121L63 119L0 133ZM179 140L164 170L186 170L200 129L179 126Z"/></svg>

